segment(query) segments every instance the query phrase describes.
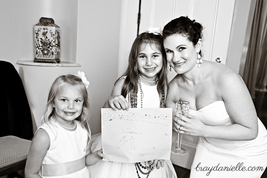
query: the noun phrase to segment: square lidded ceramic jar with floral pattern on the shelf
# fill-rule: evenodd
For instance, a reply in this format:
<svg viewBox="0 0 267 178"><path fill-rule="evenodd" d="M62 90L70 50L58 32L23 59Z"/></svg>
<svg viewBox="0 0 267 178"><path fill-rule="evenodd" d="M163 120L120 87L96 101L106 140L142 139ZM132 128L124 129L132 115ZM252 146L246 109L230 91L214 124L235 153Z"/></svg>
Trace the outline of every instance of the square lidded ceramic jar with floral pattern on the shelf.
<svg viewBox="0 0 267 178"><path fill-rule="evenodd" d="M34 26L34 62L60 62L59 30L52 18L40 18Z"/></svg>

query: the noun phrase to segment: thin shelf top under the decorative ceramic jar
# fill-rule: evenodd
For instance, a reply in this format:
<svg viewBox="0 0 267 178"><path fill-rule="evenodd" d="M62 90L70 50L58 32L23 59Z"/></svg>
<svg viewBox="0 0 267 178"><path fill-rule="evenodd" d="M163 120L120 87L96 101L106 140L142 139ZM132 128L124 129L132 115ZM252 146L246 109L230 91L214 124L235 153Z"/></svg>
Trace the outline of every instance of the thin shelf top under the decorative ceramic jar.
<svg viewBox="0 0 267 178"><path fill-rule="evenodd" d="M17 64L28 65L28 66L59 66L59 67L78 67L81 66L77 63L60 61L58 63L48 63L48 62L34 62L34 61L17 61Z"/></svg>

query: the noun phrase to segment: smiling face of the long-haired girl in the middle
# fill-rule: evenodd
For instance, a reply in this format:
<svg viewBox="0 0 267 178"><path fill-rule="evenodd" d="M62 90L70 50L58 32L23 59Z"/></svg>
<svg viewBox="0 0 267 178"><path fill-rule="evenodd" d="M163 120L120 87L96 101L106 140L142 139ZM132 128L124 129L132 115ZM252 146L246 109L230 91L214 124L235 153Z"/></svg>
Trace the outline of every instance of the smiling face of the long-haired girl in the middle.
<svg viewBox="0 0 267 178"><path fill-rule="evenodd" d="M140 48L137 68L144 79L155 81L162 69L163 55L154 44L142 44Z"/></svg>

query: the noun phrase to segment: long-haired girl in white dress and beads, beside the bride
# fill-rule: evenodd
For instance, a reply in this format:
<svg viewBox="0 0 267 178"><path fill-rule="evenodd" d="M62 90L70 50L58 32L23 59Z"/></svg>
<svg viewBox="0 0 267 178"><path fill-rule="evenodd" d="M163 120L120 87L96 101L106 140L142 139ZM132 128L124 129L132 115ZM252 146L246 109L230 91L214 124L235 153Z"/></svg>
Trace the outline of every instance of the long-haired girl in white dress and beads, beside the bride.
<svg viewBox="0 0 267 178"><path fill-rule="evenodd" d="M136 37L129 55L128 68L115 82L104 108L128 110L129 107L164 107L168 80L166 54L162 42L162 36L153 28ZM99 136L91 149L94 151L101 148ZM170 160L155 159L139 163L100 160L88 169L90 177L93 178L177 177Z"/></svg>

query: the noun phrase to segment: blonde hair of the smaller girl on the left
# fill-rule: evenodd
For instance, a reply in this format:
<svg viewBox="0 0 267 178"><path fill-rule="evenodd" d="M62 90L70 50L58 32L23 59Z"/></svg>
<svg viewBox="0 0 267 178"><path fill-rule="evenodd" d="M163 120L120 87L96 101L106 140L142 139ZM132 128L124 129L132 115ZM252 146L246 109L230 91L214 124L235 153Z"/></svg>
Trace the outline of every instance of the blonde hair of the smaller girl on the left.
<svg viewBox="0 0 267 178"><path fill-rule="evenodd" d="M68 86L75 86L83 94L84 101L82 105L82 113L76 118L76 120L80 121L82 128L84 128L88 133L87 150L90 147L91 141L91 130L88 123L90 117L89 98L85 85L80 77L68 74L61 75L55 79L49 90L45 112L42 116L42 123L51 125L52 121L50 120L50 117L53 117L55 114L55 108L53 107L55 96L59 90Z"/></svg>

